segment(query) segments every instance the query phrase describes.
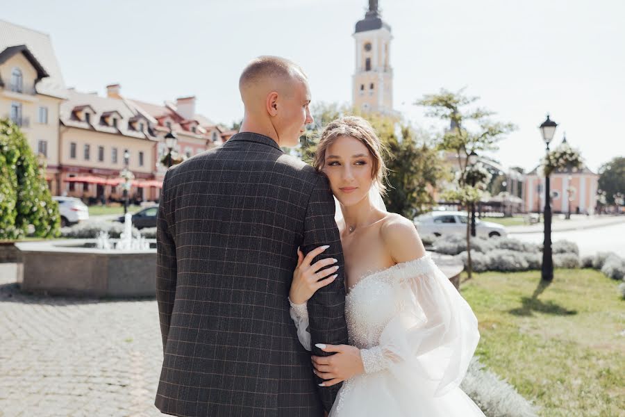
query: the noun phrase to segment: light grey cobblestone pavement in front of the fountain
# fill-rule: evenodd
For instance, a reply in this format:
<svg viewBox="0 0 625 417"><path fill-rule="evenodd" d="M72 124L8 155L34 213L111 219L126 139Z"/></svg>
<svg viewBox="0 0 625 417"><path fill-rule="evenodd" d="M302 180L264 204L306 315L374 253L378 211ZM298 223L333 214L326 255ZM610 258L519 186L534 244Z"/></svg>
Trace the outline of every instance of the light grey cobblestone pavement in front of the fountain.
<svg viewBox="0 0 625 417"><path fill-rule="evenodd" d="M24 295L0 264L0 416L163 416L152 299Z"/></svg>

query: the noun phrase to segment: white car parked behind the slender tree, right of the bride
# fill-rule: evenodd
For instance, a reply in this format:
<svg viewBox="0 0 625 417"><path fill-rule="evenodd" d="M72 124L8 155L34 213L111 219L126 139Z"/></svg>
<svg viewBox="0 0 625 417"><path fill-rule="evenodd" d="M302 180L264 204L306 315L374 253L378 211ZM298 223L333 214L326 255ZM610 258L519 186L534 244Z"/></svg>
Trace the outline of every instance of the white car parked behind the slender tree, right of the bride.
<svg viewBox="0 0 625 417"><path fill-rule="evenodd" d="M449 236L451 234L466 236L467 213L462 211L432 211L415 218L415 226L419 234ZM494 222L475 219L476 236L483 238L506 237L506 228Z"/></svg>

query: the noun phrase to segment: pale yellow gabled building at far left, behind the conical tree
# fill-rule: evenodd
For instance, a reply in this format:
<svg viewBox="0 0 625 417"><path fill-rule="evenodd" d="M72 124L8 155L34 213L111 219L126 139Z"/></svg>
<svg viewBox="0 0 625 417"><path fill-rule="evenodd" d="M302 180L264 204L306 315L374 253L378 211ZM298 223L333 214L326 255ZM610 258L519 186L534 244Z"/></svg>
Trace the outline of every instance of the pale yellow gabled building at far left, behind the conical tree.
<svg viewBox="0 0 625 417"><path fill-rule="evenodd" d="M0 117L18 124L60 186L58 113L65 84L48 35L0 20Z"/></svg>

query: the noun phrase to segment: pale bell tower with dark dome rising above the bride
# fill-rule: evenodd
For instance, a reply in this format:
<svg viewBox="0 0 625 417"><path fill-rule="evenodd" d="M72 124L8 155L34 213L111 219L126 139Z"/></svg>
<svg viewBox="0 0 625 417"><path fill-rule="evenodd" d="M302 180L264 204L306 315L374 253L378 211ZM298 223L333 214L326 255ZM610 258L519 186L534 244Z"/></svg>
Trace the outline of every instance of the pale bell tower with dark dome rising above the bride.
<svg viewBox="0 0 625 417"><path fill-rule="evenodd" d="M378 0L369 0L365 19L356 23L356 70L352 76L352 103L378 113L393 111L393 70L390 66L391 28L382 21Z"/></svg>

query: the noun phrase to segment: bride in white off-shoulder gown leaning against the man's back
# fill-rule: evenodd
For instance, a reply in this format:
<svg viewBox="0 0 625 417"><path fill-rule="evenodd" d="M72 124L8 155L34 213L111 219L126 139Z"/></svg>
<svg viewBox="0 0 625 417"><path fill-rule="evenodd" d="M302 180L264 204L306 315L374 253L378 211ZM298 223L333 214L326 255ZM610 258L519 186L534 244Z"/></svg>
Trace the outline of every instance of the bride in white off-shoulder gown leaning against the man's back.
<svg viewBox="0 0 625 417"><path fill-rule="evenodd" d="M478 343L471 307L424 250L415 226L381 201L382 145L361 117L328 124L315 154L338 200L350 345L319 344L322 386L343 382L330 417L483 416L458 386ZM379 190L379 191L378 191ZM298 253L289 293L299 340L311 350L306 302L337 267ZM331 260L329 260L331 261Z"/></svg>

